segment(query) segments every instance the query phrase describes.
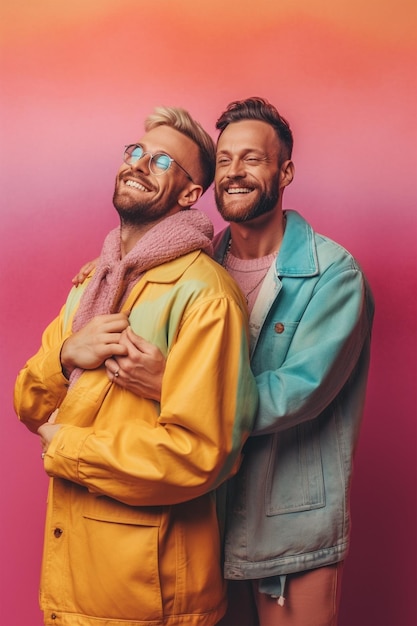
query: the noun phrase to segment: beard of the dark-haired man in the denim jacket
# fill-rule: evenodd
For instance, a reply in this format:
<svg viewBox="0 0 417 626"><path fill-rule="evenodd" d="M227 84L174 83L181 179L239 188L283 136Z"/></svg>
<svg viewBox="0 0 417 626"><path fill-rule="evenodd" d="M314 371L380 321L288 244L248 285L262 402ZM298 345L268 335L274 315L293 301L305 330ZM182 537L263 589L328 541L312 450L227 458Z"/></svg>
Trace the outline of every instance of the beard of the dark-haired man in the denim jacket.
<svg viewBox="0 0 417 626"><path fill-rule="evenodd" d="M244 206L244 203L242 203L243 207L240 208L239 197L236 199L236 203L233 201L225 203L223 201L224 193L227 192L218 191L217 187L214 190L217 210L222 218L226 222L234 222L236 224L248 222L256 217L270 213L277 206L280 198L279 174L274 176L270 189L261 192L258 198L246 207ZM242 199L242 196L240 196L240 199Z"/></svg>

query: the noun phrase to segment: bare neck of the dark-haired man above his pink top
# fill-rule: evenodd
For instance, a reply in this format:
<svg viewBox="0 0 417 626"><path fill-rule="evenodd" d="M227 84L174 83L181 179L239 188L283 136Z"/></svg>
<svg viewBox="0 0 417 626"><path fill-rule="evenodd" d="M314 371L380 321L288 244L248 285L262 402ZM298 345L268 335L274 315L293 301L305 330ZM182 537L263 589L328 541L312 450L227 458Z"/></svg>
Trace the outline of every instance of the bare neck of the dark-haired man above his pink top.
<svg viewBox="0 0 417 626"><path fill-rule="evenodd" d="M282 211L274 214L265 223L232 222L230 252L238 259L246 260L273 254L281 246L284 231L285 216Z"/></svg>

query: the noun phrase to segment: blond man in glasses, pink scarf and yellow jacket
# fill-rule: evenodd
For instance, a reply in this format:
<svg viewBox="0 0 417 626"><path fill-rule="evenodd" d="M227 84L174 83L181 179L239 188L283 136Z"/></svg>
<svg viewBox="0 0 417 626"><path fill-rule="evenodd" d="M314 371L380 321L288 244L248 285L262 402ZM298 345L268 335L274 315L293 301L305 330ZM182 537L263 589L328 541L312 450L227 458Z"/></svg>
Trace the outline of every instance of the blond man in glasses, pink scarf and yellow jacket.
<svg viewBox="0 0 417 626"><path fill-rule="evenodd" d="M192 209L213 141L182 109L157 109L145 129L116 177L120 227L15 388L51 477L46 625L213 626L225 612L215 490L257 405L246 306ZM117 384L138 335L166 359L160 401Z"/></svg>

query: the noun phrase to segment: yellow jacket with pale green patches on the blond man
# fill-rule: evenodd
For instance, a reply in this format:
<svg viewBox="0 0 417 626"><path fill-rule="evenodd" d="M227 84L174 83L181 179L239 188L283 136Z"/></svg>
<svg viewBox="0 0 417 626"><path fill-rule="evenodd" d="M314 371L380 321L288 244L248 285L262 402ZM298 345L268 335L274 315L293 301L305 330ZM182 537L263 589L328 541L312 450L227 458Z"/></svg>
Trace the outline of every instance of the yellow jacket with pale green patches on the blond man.
<svg viewBox="0 0 417 626"><path fill-rule="evenodd" d="M15 389L33 432L57 407L63 425L45 458L45 624L211 626L225 610L215 489L237 471L257 407L245 304L198 251L136 284L122 310L167 356L159 405L102 367L67 393L59 353L86 284Z"/></svg>

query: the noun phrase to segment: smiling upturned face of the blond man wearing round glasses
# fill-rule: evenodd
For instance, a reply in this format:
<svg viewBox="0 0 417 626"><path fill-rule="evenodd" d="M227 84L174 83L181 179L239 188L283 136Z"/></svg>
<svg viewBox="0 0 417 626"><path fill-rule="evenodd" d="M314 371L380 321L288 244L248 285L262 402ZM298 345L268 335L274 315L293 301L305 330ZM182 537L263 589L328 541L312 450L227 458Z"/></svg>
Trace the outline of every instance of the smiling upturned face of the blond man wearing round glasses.
<svg viewBox="0 0 417 626"><path fill-rule="evenodd" d="M157 126L139 140L144 150L165 152L178 161L195 180L198 176L199 152L188 137L169 126ZM196 178L194 178L194 175ZM113 204L122 224L150 224L191 206L201 194L175 163L163 174L149 170L149 155L134 165L124 163L116 177Z"/></svg>

